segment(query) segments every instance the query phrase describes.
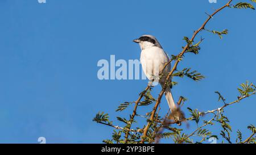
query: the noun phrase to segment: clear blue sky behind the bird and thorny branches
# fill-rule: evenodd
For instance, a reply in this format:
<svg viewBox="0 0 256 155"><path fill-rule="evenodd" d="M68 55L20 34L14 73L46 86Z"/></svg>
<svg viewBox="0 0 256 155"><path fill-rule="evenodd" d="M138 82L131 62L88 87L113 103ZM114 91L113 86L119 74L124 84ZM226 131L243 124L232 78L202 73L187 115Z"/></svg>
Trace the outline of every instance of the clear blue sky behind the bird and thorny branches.
<svg viewBox="0 0 256 155"><path fill-rule="evenodd" d="M246 0L244 0L246 1ZM238 1L234 1L238 2ZM0 2L0 143L102 143L113 128L92 122L98 111L110 119L128 116L131 108L115 112L119 103L138 98L146 80L97 78L101 59L138 59L133 39L152 34L169 55L185 45L192 32L223 1L51 1L2 0ZM255 11L225 9L207 25L209 30L229 34L222 40L209 32L200 55L186 55L178 69L191 67L206 77L201 82L175 78L174 98L188 98L185 107L200 111L220 107L214 91L227 102L238 96L237 86L256 82ZM152 94L156 97L160 86ZM233 126L248 136L247 125L255 124L256 97L227 107ZM184 108L185 108L184 107ZM163 98L161 108L167 111ZM139 114L150 111L141 107ZM186 112L186 115L189 114ZM143 123L139 119L138 125ZM188 131L195 125L191 124ZM213 127L218 135L220 127ZM170 141L163 141L168 143ZM221 141L218 141L219 143Z"/></svg>

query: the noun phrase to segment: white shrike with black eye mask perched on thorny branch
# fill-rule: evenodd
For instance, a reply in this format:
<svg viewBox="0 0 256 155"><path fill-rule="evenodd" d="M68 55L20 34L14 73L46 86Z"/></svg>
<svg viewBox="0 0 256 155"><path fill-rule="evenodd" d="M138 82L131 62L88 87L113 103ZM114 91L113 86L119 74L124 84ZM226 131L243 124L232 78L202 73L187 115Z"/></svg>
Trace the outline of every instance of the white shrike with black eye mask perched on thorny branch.
<svg viewBox="0 0 256 155"><path fill-rule="evenodd" d="M154 36L143 35L139 39L133 40L135 43L139 43L141 47L141 64L142 69L146 77L150 81L157 81L162 87L166 77L159 78L159 74L162 72L164 65L170 61L167 53L163 51L162 46L156 40ZM167 65L163 70L163 74L169 73L171 70L171 64ZM166 99L171 111L176 109L174 99L170 87L165 90Z"/></svg>

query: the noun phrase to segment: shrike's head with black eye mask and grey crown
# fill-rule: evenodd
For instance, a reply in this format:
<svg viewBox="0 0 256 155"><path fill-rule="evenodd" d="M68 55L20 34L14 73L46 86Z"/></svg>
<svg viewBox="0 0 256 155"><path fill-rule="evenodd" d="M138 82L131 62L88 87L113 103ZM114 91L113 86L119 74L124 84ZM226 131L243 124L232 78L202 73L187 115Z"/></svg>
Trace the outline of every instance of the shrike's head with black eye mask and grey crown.
<svg viewBox="0 0 256 155"><path fill-rule="evenodd" d="M141 47L141 49L146 49L150 47L159 47L162 48L158 40L151 35L143 35L139 37L139 39L134 39L134 43L138 43Z"/></svg>

